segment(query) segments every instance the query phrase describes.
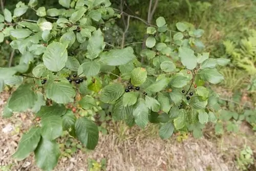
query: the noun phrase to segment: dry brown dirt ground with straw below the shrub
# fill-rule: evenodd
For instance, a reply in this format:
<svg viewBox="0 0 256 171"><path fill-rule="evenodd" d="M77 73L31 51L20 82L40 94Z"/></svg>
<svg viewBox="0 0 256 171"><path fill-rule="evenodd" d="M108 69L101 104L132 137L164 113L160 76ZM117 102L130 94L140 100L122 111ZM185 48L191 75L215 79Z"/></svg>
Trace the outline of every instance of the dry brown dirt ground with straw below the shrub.
<svg viewBox="0 0 256 171"><path fill-rule="evenodd" d="M7 93L0 96L0 114L8 98ZM32 124L32 113L16 113L12 118L0 117L0 166L12 165L10 170L40 170L36 167L33 154L24 161L17 162L11 158L23 132ZM128 130L126 137L111 132L100 135L95 151L78 151L71 158L62 157L54 170L86 171L88 158L100 161L106 159L106 170L238 170L235 155L246 143L255 147L255 135L242 125L241 135L229 134L223 137L210 136L194 139L189 136L179 143L175 136L161 140L157 136L140 136L137 128ZM133 134L130 135L130 133ZM136 135L138 134L138 135ZM255 152L255 148L254 148ZM1 170L0 167L0 170Z"/></svg>

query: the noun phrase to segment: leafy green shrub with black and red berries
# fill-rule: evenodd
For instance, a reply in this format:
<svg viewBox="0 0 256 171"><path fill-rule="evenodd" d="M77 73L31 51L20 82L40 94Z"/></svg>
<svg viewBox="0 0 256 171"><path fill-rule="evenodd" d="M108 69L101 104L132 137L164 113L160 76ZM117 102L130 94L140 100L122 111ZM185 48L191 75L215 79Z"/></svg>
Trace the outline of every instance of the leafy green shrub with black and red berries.
<svg viewBox="0 0 256 171"><path fill-rule="evenodd" d="M28 109L36 122L23 135L13 157L35 154L38 167L51 170L60 156L57 139L66 131L88 149L99 139L94 115L111 112L114 121L143 129L159 124L159 136L174 131L202 135L216 122L218 96L204 87L224 78L216 69L229 60L203 52L203 30L177 23L170 30L163 17L145 32L146 49L113 47L104 41L104 25L120 15L109 0L64 1L61 9L37 7L37 0L19 2L0 15L0 41L11 39L19 65L0 69L0 88L16 87L3 117ZM38 20L25 19L32 9ZM130 44L131 45L131 44Z"/></svg>

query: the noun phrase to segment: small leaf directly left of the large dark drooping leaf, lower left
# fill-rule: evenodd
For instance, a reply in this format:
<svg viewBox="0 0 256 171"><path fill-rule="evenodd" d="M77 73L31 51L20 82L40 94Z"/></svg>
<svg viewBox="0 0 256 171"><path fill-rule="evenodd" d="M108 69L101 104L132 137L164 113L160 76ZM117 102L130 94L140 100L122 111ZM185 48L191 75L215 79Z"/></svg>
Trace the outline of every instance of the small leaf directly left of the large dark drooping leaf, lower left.
<svg viewBox="0 0 256 171"><path fill-rule="evenodd" d="M61 117L62 119L62 128L64 131L69 131L72 136L75 136L75 123L76 123L76 116L73 114L71 110L68 110L65 115Z"/></svg>

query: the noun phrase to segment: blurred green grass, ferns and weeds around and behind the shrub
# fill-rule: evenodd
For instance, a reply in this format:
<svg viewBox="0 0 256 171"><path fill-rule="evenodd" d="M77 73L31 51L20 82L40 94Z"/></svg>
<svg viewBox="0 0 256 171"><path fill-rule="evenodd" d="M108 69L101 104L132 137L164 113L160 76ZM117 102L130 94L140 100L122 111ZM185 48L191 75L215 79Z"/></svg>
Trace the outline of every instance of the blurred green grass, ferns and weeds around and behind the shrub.
<svg viewBox="0 0 256 171"><path fill-rule="evenodd" d="M23 2L28 3L29 1ZM127 16L132 15L134 17L131 18L129 29L125 35L125 44L131 44L139 53L144 46L141 40L145 39L144 33L147 28L147 25L143 24L141 20L155 25L156 19L163 16L173 30L175 30L177 22L191 23L195 28L204 30L201 38L202 43L198 41L197 48L210 52L210 57L230 59L231 62L227 67L220 68L225 80L217 86L207 85L211 90L218 92L220 99L215 107L220 109L221 113L217 123L209 123L204 127L203 135L215 142L218 142L222 136L229 134L248 139L252 143L239 146L234 158L237 168L255 170L256 1L159 0L154 15L150 19L147 16L150 1L112 0L111 2L112 7L120 12L122 17L117 22L110 22L103 28L105 41L110 46L122 46L122 33L127 28ZM3 1L4 8L8 8L10 11L15 9L17 3L18 1L14 0ZM39 6L45 6L47 9L60 8L58 1L45 0L38 1L38 3ZM36 18L32 10L28 11L26 17L28 19ZM5 39L1 45L0 67L15 66L19 62L20 54L11 48L9 41ZM113 127L116 128L116 125L110 124L109 120L111 120L111 116L101 117L100 130L103 134L107 134ZM252 135L241 135L241 125L248 126ZM136 133L154 137L156 134L154 129L153 126L143 133ZM119 137L124 136L122 131L114 130ZM182 131L176 134L178 136L175 140L178 142L182 142L189 136ZM68 151L63 149L64 156L72 156L77 149L82 148L79 143L69 140L63 140L63 145L70 149ZM105 169L106 162L104 160L100 162L90 160L88 162L91 168Z"/></svg>

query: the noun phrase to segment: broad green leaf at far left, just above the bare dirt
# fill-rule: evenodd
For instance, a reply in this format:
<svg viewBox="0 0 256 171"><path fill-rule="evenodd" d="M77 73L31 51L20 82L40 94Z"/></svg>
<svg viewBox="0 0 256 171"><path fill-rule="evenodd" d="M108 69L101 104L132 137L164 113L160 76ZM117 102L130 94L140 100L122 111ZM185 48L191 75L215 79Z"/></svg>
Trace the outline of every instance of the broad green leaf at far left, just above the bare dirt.
<svg viewBox="0 0 256 171"><path fill-rule="evenodd" d="M37 96L34 91L32 91L30 85L22 84L11 95L8 106L14 112L23 112L31 109L36 100Z"/></svg>

